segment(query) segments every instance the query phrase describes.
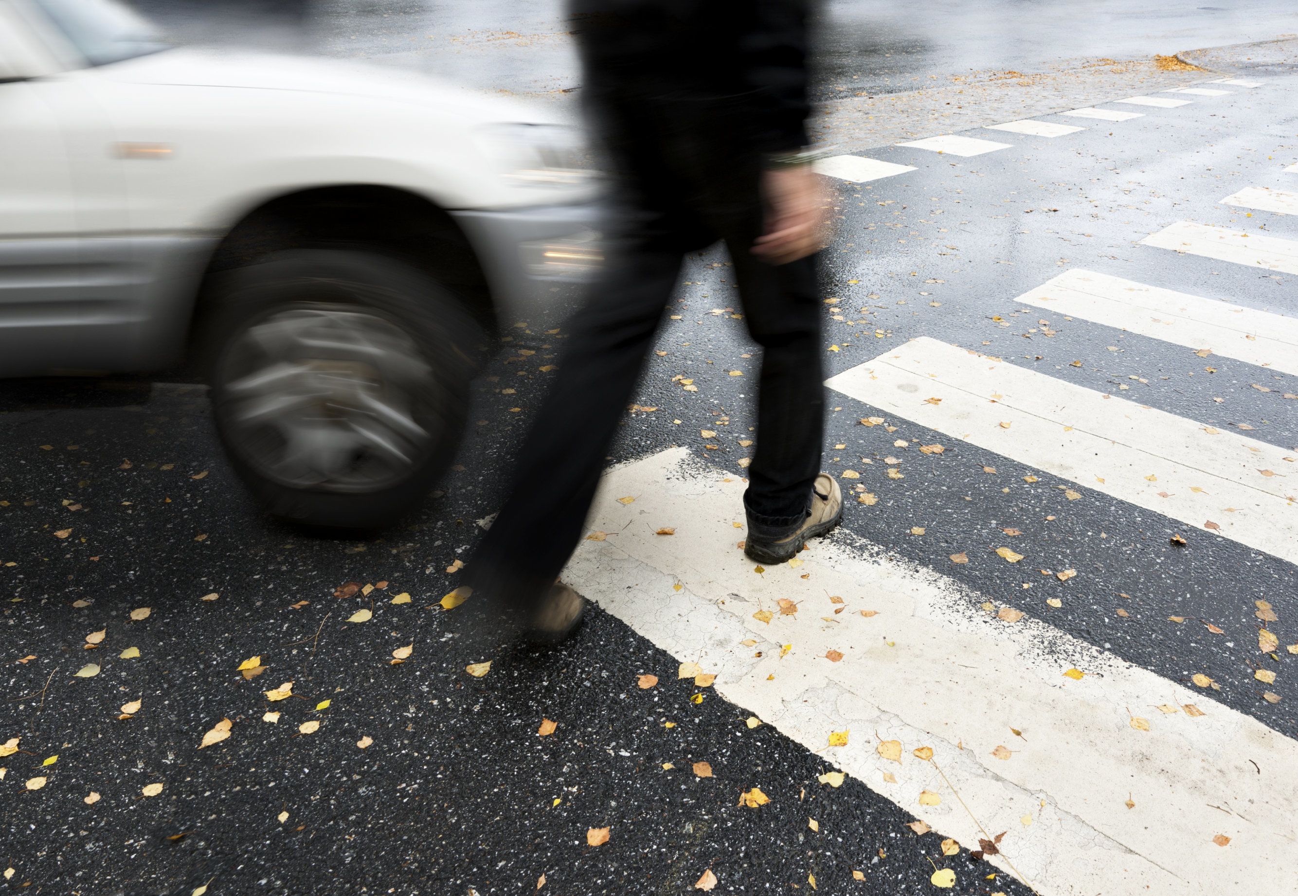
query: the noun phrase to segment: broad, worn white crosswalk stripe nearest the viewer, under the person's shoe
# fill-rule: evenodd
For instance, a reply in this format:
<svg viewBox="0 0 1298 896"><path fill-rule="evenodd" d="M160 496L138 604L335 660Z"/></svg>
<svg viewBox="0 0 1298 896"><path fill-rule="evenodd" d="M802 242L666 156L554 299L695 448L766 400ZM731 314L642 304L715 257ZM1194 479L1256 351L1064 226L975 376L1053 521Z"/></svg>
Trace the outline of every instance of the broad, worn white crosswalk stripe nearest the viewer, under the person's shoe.
<svg viewBox="0 0 1298 896"><path fill-rule="evenodd" d="M684 448L614 467L591 526L618 536L583 540L563 579L678 661L715 674L705 700L719 695L744 708L736 716L774 725L824 757L826 771L846 771L967 848L985 836L970 812L988 831L1009 831L1001 848L1040 893L1218 895L1238 892L1258 869L1298 875L1298 743L1044 622L1001 622L959 583L844 531L813 543L796 569L755 574L732 526L742 493L739 477ZM635 501L618 503L627 496ZM654 535L659 526L676 534ZM1085 600L1064 593L1073 584L1051 593ZM780 599L798 612L781 614ZM753 617L763 610L768 625ZM1066 678L1070 667L1085 677ZM1160 704L1205 714L1163 714ZM687 716L661 703L652 712ZM831 731L849 731L848 745L828 747ZM900 761L876 752L876 732L901 741ZM993 756L1002 745L1009 760ZM912 754L919 747L933 749L932 762ZM763 783L755 769L731 773L749 775L732 782L745 790ZM920 805L924 790L940 804ZM1212 844L1216 834L1232 838L1229 848ZM1009 874L1002 857L988 861ZM977 867L958 874L989 870Z"/></svg>

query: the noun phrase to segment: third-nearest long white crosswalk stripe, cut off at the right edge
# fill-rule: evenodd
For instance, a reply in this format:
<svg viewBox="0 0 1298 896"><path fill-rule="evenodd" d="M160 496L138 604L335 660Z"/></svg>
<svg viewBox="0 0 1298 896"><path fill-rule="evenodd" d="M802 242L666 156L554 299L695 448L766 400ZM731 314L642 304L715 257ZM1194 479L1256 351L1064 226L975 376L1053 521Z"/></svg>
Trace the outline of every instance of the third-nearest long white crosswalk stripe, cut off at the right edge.
<svg viewBox="0 0 1298 896"><path fill-rule="evenodd" d="M1298 375L1298 319L1284 314L1089 270L1064 271L1014 301Z"/></svg>

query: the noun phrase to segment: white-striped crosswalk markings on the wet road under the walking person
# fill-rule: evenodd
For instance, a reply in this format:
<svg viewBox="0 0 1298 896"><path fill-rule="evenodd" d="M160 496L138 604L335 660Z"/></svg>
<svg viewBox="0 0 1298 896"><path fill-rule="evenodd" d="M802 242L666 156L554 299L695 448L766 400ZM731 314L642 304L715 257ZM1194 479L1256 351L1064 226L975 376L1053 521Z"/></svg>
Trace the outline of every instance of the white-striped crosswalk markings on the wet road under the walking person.
<svg viewBox="0 0 1298 896"><path fill-rule="evenodd" d="M1150 112L1060 114L1131 121L1193 101L1176 93L1212 99L1234 92L1215 84L1263 82L1207 83L1115 100ZM1055 139L1086 129L1024 119L983 130ZM940 135L897 145L975 157L1012 144ZM853 183L916 169L864 156L816 168ZM1267 186L1218 201L1298 213L1298 193ZM1298 240L1237 221L1173 221L1137 245L1159 282L1177 270L1166 249L1298 274ZM1298 318L1234 297L1241 304L1070 269L1006 300L1041 309L1057 331L1085 321L1205 366L1249 365L1234 379L1284 409L1268 413L1298 413L1298 395L1276 382L1298 375ZM1249 425L1142 404L1136 375L1131 388L1127 377L1079 384L1063 364L1036 367L922 335L827 386L859 401L861 416L993 452L1006 458L1002 473L1035 488L1068 500L1106 495L1160 514L1172 531L1201 530L1298 565L1298 448ZM1038 473L1077 490L1037 486ZM739 541L744 487L685 448L609 470L589 526L618 538L583 541L565 578L680 662L715 674L719 696L823 757L827 771L845 771L966 847L1009 831L988 861L1036 892L1243 892L1258 867L1298 879L1298 741L850 532L790 564L754 567ZM665 529L674 536L657 535ZM836 732L845 744L831 741ZM1138 812L1145 805L1157 812Z"/></svg>

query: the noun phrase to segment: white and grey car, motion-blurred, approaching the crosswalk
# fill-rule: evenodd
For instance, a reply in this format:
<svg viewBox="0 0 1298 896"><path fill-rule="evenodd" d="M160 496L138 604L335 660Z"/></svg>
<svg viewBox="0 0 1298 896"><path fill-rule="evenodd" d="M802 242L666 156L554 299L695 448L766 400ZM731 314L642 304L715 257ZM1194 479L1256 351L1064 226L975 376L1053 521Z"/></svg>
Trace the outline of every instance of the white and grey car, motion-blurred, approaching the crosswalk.
<svg viewBox="0 0 1298 896"><path fill-rule="evenodd" d="M504 99L0 0L0 375L192 353L288 519L382 526L427 493L472 345L597 266L594 193L574 132Z"/></svg>

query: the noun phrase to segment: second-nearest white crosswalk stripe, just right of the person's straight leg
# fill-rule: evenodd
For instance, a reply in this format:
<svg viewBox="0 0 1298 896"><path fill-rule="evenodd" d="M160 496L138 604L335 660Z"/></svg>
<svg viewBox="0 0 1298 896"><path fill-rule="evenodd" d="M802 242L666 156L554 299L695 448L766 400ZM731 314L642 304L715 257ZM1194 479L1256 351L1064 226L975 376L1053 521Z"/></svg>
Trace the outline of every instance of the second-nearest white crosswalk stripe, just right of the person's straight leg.
<svg viewBox="0 0 1298 896"><path fill-rule="evenodd" d="M1205 426L927 336L827 384L885 413L1298 564L1298 464L1286 461L1284 449L1224 423Z"/></svg>

